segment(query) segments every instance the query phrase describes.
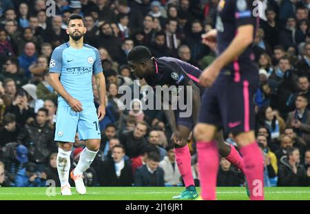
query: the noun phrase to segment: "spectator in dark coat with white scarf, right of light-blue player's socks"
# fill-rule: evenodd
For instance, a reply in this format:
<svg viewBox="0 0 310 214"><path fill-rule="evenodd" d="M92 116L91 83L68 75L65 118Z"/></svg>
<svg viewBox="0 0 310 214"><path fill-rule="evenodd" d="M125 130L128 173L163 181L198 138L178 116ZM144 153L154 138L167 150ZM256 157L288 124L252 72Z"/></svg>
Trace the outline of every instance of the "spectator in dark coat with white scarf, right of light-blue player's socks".
<svg viewBox="0 0 310 214"><path fill-rule="evenodd" d="M100 167L100 186L132 186L132 166L124 156L124 146L116 145L112 148L112 158L106 159Z"/></svg>

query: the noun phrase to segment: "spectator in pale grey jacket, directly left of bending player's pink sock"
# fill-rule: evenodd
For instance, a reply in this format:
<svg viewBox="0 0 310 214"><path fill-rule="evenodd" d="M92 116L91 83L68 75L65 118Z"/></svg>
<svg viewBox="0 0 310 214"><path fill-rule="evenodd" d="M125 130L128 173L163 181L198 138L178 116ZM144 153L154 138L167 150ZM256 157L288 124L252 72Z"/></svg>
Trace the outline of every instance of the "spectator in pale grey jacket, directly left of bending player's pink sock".
<svg viewBox="0 0 310 214"><path fill-rule="evenodd" d="M159 166L163 168L165 186L178 186L182 184L180 171L176 165L176 154L174 147L168 146L166 148L167 156L159 163Z"/></svg>

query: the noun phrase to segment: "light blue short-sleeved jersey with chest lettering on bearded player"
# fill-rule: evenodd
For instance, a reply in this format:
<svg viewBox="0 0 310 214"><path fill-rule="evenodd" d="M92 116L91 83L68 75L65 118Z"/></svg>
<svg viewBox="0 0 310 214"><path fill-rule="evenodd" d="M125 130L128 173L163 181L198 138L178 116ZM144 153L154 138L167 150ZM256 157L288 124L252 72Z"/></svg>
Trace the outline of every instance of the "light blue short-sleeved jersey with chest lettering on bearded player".
<svg viewBox="0 0 310 214"><path fill-rule="evenodd" d="M92 93L92 74L103 72L99 51L87 44L83 48L72 48L63 43L52 52L50 72L60 74L60 81L65 90L82 106L94 104ZM59 95L58 106L69 106L68 102Z"/></svg>

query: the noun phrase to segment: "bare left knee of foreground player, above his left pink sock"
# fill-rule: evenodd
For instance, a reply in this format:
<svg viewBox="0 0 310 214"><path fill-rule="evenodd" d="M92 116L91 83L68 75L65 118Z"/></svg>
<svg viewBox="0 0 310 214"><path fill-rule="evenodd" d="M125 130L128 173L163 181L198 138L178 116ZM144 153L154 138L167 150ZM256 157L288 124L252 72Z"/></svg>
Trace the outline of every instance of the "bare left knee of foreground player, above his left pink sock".
<svg viewBox="0 0 310 214"><path fill-rule="evenodd" d="M194 128L194 136L198 142L211 142L216 133L216 126L210 124L197 124Z"/></svg>

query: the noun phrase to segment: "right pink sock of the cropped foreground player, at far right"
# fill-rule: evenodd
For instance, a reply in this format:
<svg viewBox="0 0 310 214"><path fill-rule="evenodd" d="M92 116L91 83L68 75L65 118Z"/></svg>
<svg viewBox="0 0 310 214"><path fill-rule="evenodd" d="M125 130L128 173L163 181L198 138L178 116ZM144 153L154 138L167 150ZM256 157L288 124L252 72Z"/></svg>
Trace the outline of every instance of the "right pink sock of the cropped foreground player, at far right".
<svg viewBox="0 0 310 214"><path fill-rule="evenodd" d="M244 160L244 173L249 185L251 200L264 200L264 166L262 152L254 142L240 148Z"/></svg>

